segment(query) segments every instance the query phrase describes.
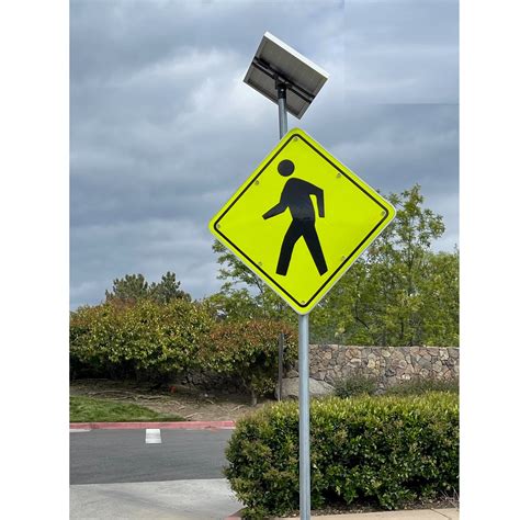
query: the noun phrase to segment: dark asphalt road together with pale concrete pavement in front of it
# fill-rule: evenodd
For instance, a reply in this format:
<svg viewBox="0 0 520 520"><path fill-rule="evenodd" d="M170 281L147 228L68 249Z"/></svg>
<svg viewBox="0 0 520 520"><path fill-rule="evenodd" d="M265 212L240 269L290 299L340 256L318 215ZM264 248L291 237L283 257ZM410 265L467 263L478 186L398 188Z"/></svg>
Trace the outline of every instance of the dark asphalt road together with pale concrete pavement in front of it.
<svg viewBox="0 0 520 520"><path fill-rule="evenodd" d="M70 518L225 519L242 507L222 473L231 433L71 431Z"/></svg>

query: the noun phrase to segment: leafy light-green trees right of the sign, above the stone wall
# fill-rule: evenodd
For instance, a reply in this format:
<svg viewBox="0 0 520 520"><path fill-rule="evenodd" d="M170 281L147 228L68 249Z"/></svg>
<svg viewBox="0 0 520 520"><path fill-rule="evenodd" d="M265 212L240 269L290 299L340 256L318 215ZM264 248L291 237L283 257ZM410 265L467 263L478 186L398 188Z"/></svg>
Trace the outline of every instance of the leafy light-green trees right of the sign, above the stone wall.
<svg viewBox="0 0 520 520"><path fill-rule="evenodd" d="M459 255L434 253L442 217L420 186L399 195L394 222L316 312L317 331L350 344L457 344Z"/></svg>

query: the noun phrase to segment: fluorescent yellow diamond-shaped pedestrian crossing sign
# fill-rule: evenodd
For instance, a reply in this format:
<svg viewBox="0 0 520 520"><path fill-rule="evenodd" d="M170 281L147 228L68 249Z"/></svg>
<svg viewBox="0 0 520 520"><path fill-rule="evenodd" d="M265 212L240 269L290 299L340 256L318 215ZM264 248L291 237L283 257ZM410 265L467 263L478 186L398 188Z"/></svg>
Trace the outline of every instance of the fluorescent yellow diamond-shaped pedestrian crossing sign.
<svg viewBox="0 0 520 520"><path fill-rule="evenodd" d="M374 189L298 128L210 222L210 230L299 314L392 222Z"/></svg>

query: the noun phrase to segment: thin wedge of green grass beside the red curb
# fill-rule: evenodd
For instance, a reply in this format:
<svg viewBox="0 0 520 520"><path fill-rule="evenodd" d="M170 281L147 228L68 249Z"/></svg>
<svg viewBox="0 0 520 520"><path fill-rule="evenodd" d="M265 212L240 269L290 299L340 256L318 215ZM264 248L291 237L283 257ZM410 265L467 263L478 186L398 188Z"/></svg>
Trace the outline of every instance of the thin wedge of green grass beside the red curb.
<svg viewBox="0 0 520 520"><path fill-rule="evenodd" d="M70 422L180 421L183 417L165 415L131 403L70 396Z"/></svg>

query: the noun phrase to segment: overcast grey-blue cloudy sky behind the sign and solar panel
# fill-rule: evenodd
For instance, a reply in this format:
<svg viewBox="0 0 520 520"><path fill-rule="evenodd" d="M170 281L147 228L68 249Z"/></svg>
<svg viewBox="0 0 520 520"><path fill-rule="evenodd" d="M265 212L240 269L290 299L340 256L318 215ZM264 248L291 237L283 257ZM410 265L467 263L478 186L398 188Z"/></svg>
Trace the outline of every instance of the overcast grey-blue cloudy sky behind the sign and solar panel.
<svg viewBox="0 0 520 520"><path fill-rule="evenodd" d="M278 143L244 76L269 31L329 72L298 126L383 193L422 186L459 242L459 2L70 2L70 306L174 271L216 292L207 222Z"/></svg>

